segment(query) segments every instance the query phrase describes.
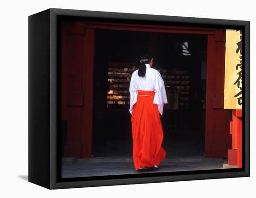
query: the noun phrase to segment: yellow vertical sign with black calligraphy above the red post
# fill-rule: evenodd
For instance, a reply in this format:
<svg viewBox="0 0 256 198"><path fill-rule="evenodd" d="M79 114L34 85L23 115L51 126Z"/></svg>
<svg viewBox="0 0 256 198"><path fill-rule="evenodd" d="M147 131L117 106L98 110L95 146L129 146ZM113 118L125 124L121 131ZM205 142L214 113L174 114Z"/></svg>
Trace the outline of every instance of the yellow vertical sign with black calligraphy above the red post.
<svg viewBox="0 0 256 198"><path fill-rule="evenodd" d="M242 30L226 30L224 109L242 109Z"/></svg>

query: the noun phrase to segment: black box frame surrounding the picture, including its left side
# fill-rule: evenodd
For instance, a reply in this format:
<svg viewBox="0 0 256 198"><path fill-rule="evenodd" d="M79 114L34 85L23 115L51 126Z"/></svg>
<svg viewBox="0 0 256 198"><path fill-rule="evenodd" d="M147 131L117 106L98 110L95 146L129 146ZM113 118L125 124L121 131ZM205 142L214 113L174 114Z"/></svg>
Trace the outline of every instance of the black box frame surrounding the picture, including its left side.
<svg viewBox="0 0 256 198"><path fill-rule="evenodd" d="M157 21L182 26L241 29L243 35L243 168L186 172L145 173L86 178L58 178L58 116L60 116L60 44L61 19L94 18L111 21ZM112 13L50 8L28 17L29 22L29 160L28 181L48 189L105 185L127 185L250 176L250 22L133 13Z"/></svg>

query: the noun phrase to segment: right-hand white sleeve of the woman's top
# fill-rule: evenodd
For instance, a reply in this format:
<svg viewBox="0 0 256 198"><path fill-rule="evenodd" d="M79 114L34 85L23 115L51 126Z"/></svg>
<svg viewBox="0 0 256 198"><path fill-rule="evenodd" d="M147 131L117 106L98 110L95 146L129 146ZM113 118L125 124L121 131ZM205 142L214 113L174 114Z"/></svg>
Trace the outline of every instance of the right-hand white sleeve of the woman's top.
<svg viewBox="0 0 256 198"><path fill-rule="evenodd" d="M155 88L155 97L154 97L153 103L157 104L158 110L162 115L163 104L167 104L168 101L167 101L164 81L162 79L161 74L158 71L156 72L156 75L155 75L154 88Z"/></svg>

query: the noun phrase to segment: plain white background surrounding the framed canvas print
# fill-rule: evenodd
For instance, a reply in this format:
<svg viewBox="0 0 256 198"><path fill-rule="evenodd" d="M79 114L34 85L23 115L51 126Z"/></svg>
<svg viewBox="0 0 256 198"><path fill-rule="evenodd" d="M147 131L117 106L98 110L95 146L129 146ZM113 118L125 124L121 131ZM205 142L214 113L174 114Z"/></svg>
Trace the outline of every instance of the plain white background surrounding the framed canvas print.
<svg viewBox="0 0 256 198"><path fill-rule="evenodd" d="M168 2L168 3L167 3ZM53 8L145 13L251 21L251 76L255 74L255 6L252 0L5 0L0 3L0 158L1 197L244 197L255 194L250 178L209 179L49 191L26 181L28 174L28 15ZM255 78L251 78L251 87ZM255 92L251 92L251 101ZM251 120L255 119L251 103ZM251 122L251 140L255 122ZM251 150L256 144L251 141ZM255 165L251 152L251 167ZM3 194L6 194L3 196ZM251 196L250 196L251 197Z"/></svg>

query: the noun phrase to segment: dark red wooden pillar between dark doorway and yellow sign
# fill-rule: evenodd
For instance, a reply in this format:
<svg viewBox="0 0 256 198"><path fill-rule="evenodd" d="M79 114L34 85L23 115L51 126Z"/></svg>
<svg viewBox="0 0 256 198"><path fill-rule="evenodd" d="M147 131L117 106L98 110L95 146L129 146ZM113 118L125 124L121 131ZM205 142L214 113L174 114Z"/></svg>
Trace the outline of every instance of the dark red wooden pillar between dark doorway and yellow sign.
<svg viewBox="0 0 256 198"><path fill-rule="evenodd" d="M225 30L208 35L205 157L226 158L230 144L229 112L224 108Z"/></svg>

